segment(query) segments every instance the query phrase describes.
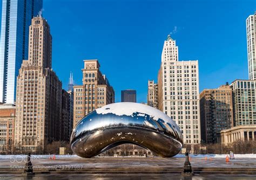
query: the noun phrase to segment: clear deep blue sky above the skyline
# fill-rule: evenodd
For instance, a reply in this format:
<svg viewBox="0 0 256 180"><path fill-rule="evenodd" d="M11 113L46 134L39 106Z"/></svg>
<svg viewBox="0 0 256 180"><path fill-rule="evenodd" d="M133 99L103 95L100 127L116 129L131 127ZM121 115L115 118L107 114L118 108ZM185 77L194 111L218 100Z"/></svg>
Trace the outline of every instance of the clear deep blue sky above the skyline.
<svg viewBox="0 0 256 180"><path fill-rule="evenodd" d="M200 91L248 79L245 20L256 0L44 0L43 6L52 67L64 89L70 71L80 85L83 60L98 59L117 102L122 89L136 89L137 101L146 102L147 80L157 80L170 32L179 60L199 60Z"/></svg>

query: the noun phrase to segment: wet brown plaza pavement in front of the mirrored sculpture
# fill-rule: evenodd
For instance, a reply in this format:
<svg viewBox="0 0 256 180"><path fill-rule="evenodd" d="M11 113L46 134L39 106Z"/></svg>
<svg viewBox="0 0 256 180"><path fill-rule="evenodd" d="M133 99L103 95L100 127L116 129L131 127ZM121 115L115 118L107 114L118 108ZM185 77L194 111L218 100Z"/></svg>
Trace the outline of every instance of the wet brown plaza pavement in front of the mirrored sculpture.
<svg viewBox="0 0 256 180"><path fill-rule="evenodd" d="M0 174L20 174L26 156L0 158ZM184 157L95 157L32 156L33 169L39 174L181 174ZM223 157L190 158L196 174L246 174L256 176L255 158L235 158L226 162Z"/></svg>

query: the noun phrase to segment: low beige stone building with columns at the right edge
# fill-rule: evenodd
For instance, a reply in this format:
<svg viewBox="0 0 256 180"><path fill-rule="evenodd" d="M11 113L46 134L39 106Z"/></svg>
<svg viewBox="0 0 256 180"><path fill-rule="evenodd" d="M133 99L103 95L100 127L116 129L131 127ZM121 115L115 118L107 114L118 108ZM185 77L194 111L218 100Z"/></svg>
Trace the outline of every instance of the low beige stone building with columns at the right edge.
<svg viewBox="0 0 256 180"><path fill-rule="evenodd" d="M237 141L255 141L256 125L237 126L217 133L217 142L229 144Z"/></svg>

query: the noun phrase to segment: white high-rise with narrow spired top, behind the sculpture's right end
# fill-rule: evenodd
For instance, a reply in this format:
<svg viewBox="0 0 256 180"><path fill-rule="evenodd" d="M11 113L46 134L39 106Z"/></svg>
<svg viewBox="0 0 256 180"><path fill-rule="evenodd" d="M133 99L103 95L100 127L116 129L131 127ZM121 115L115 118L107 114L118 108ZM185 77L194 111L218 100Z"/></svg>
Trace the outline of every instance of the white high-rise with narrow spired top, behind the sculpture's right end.
<svg viewBox="0 0 256 180"><path fill-rule="evenodd" d="M158 108L178 124L185 144L197 144L201 140L198 60L178 59L178 46L169 35L158 72Z"/></svg>

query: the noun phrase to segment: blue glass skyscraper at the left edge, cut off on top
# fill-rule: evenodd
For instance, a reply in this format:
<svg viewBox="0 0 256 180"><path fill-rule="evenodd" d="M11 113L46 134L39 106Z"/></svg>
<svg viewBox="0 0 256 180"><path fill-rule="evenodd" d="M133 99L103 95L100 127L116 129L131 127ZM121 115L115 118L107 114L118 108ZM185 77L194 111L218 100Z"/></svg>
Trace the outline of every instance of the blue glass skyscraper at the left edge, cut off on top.
<svg viewBox="0 0 256 180"><path fill-rule="evenodd" d="M14 103L16 77L28 59L29 25L43 7L43 0L3 0L0 42L0 102Z"/></svg>

